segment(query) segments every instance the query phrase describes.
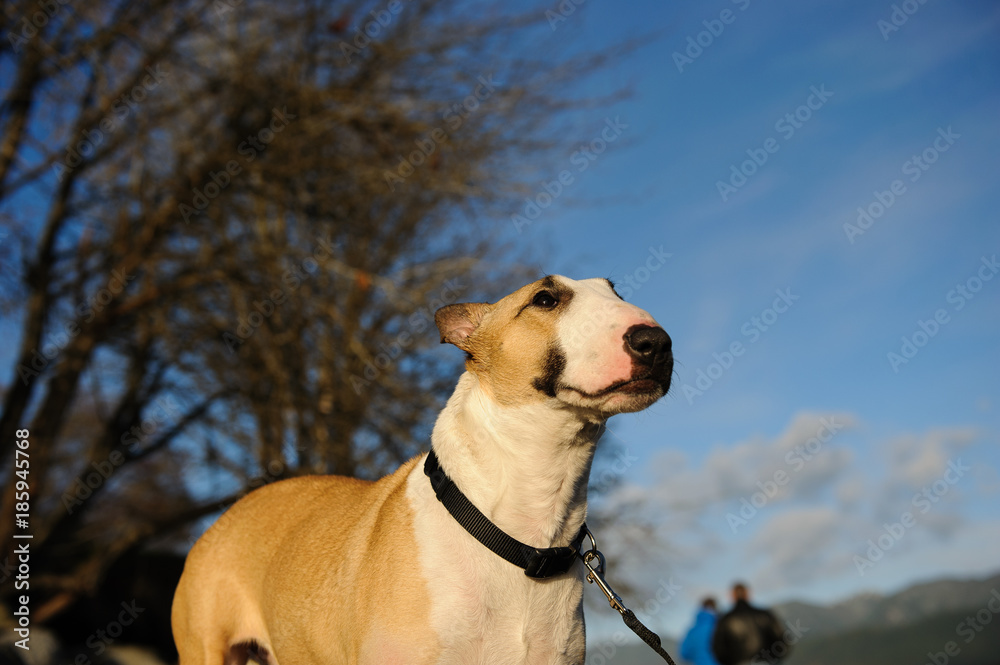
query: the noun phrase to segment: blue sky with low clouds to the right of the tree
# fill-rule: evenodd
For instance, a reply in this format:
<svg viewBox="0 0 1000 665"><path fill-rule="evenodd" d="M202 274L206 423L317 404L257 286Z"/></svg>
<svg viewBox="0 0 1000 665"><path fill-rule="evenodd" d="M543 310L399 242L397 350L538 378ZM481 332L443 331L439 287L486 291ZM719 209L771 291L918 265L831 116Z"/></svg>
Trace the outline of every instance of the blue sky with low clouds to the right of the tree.
<svg viewBox="0 0 1000 665"><path fill-rule="evenodd" d="M763 603L825 603L1000 568L1000 7L914 2L894 31L879 24L889 2L628 7L588 2L552 35L576 49L655 32L597 86L634 95L574 128L587 144L617 116L623 140L508 237L548 248L541 272L631 276L629 300L673 337L671 395L610 423L637 461L605 505L654 521L663 543L623 553L619 574L649 594L667 575L681 586L651 625L680 633L737 577ZM679 70L704 21L720 34ZM723 196L719 181L739 186ZM848 233L859 207L872 221ZM671 256L647 272L651 248ZM685 392L699 372L711 385ZM815 455L794 452L818 433ZM780 492L734 532L727 514L778 472ZM925 487L935 501L915 502ZM594 614L596 639L613 624Z"/></svg>

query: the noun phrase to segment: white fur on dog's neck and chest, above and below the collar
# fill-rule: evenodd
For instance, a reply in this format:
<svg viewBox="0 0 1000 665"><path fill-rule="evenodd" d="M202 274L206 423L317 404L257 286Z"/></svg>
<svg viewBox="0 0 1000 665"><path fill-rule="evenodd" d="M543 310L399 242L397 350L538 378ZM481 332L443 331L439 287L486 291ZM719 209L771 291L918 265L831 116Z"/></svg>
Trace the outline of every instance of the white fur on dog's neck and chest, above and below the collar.
<svg viewBox="0 0 1000 665"><path fill-rule="evenodd" d="M481 424L481 426L480 426ZM599 426L542 403L502 408L464 374L432 437L441 465L508 534L536 547L567 545L587 510ZM416 563L431 596L440 663L580 663L582 567L534 580L469 535L434 496L422 463L407 484Z"/></svg>

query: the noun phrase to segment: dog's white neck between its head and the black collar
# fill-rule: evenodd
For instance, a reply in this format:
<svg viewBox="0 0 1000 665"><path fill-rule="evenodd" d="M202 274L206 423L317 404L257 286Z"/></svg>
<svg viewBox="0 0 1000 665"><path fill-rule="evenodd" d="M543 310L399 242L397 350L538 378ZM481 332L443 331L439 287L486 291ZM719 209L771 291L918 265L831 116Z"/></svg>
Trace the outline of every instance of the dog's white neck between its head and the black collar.
<svg viewBox="0 0 1000 665"><path fill-rule="evenodd" d="M534 547L567 545L587 514L602 420L544 403L503 407L466 372L432 443L459 489L494 524Z"/></svg>

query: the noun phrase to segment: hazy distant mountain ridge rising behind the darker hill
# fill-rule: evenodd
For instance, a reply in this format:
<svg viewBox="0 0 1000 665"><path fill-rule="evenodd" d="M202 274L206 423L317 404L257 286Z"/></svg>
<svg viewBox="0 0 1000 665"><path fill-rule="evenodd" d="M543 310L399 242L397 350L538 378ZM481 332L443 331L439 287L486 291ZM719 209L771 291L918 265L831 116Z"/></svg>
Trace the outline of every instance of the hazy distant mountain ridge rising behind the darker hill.
<svg viewBox="0 0 1000 665"><path fill-rule="evenodd" d="M901 627L951 611L985 607L993 590L1000 593L1000 574L978 580L935 580L890 596L862 594L822 607L790 602L774 607L788 621L800 621L810 638L849 630ZM1000 617L994 626L1000 632Z"/></svg>

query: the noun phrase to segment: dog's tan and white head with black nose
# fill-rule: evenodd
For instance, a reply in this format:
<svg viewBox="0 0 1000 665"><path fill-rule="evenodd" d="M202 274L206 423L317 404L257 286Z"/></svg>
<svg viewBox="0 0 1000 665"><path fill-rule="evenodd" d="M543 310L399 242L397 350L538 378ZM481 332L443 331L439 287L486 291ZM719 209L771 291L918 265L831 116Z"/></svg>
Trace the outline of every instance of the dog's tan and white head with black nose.
<svg viewBox="0 0 1000 665"><path fill-rule="evenodd" d="M435 321L503 405L555 399L608 416L644 409L670 388L670 336L606 279L550 275L496 303L442 307Z"/></svg>

